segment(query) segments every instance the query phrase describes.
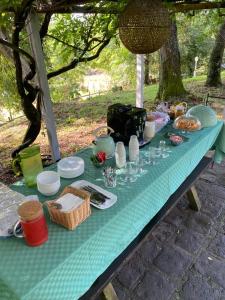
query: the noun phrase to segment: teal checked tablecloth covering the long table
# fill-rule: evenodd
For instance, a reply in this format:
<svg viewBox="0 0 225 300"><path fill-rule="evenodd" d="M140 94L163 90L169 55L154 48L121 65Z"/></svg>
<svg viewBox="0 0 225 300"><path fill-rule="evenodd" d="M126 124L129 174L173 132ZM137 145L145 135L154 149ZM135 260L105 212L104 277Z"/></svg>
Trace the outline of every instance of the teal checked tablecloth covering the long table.
<svg viewBox="0 0 225 300"><path fill-rule="evenodd" d="M90 218L75 231L49 222L49 241L37 248L27 247L17 238L0 240L0 299L78 299L192 172L215 144L222 125L219 122L213 128L189 134L187 142L173 147L170 157L149 167L145 176L114 189L117 203L105 211L93 208ZM86 162L85 174L79 179L103 185L101 171L89 161L90 149L79 156ZM62 186L72 181L63 180ZM24 194L37 193L21 182L12 188Z"/></svg>

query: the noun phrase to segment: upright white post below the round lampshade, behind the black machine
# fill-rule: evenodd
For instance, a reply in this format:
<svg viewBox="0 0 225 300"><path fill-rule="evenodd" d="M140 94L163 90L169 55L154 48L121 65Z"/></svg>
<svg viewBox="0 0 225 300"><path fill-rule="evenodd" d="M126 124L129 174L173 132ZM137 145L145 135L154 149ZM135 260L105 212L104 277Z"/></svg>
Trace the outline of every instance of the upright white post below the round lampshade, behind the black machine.
<svg viewBox="0 0 225 300"><path fill-rule="evenodd" d="M144 106L144 55L137 55L136 107Z"/></svg>

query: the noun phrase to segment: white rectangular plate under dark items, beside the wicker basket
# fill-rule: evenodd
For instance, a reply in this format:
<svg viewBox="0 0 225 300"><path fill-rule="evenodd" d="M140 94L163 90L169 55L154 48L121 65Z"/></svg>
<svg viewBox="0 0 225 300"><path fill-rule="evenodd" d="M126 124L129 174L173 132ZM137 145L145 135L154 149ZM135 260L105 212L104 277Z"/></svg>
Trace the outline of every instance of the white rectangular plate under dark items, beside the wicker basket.
<svg viewBox="0 0 225 300"><path fill-rule="evenodd" d="M97 205L97 204L91 202L91 205L93 205L93 206L95 206L96 208L99 208L99 209L107 209L107 208L113 206L117 201L117 196L115 194L112 194L112 193L104 190L100 186L95 185L94 183L91 183L91 182L86 181L86 180L75 181L71 184L71 186L75 187L75 188L82 188L83 186L90 186L90 187L93 187L96 191L98 191L98 192L102 193L103 195L105 195L106 197L109 197L109 199L106 199L103 204Z"/></svg>

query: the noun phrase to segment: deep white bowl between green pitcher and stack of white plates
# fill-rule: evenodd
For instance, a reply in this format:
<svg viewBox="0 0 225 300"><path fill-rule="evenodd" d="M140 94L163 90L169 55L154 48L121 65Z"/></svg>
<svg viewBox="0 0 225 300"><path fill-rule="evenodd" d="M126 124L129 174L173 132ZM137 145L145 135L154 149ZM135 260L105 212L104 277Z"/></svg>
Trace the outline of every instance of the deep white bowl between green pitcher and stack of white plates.
<svg viewBox="0 0 225 300"><path fill-rule="evenodd" d="M60 188L60 176L54 171L44 171L37 176L38 191L45 196L55 195Z"/></svg>

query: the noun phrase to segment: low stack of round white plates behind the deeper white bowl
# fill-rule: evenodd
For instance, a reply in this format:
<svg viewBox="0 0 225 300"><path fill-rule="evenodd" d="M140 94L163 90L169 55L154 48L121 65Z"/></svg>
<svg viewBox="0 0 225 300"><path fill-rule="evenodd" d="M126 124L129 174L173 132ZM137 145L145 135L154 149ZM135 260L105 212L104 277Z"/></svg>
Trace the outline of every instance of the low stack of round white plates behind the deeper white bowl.
<svg viewBox="0 0 225 300"><path fill-rule="evenodd" d="M74 178L84 173L84 160L78 156L61 159L57 163L58 173L63 178Z"/></svg>

